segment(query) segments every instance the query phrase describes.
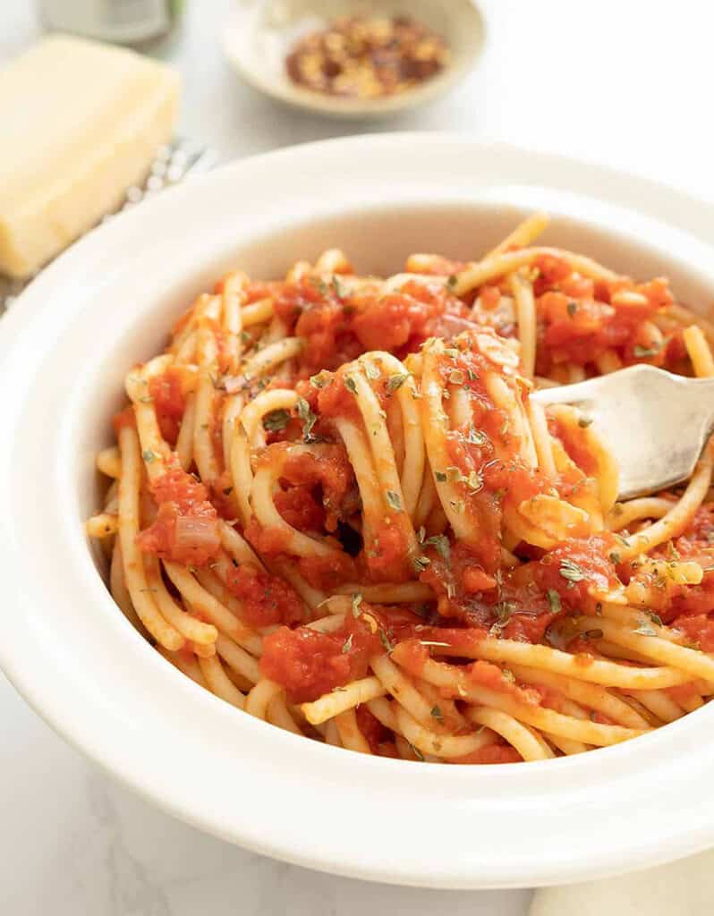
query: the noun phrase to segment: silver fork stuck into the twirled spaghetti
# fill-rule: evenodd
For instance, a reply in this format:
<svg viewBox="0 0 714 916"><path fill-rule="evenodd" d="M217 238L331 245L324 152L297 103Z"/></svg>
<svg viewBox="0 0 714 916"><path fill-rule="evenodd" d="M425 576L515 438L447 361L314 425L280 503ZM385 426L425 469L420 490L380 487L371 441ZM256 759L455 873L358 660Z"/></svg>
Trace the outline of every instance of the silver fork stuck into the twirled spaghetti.
<svg viewBox="0 0 714 916"><path fill-rule="evenodd" d="M714 430L714 378L673 376L654 365L531 397L544 406L572 404L593 421L620 467L621 499L687 480Z"/></svg>

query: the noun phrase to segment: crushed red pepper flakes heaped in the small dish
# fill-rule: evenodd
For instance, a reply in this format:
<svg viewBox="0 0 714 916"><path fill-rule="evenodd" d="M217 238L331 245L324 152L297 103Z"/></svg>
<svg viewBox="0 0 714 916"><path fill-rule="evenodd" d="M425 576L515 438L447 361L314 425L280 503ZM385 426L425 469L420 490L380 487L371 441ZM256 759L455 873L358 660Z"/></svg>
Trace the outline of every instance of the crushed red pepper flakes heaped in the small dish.
<svg viewBox="0 0 714 916"><path fill-rule="evenodd" d="M299 39L286 59L292 82L314 92L377 99L442 71L445 39L405 16L341 16Z"/></svg>

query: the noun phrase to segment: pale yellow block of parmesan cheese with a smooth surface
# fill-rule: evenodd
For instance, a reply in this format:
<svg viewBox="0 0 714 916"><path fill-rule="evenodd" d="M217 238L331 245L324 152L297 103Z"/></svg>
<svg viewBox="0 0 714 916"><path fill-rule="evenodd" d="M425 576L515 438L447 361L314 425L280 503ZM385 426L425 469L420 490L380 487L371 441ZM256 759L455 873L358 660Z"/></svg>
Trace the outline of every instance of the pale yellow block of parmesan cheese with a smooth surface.
<svg viewBox="0 0 714 916"><path fill-rule="evenodd" d="M175 71L49 36L0 72L0 273L27 278L143 179L171 136Z"/></svg>

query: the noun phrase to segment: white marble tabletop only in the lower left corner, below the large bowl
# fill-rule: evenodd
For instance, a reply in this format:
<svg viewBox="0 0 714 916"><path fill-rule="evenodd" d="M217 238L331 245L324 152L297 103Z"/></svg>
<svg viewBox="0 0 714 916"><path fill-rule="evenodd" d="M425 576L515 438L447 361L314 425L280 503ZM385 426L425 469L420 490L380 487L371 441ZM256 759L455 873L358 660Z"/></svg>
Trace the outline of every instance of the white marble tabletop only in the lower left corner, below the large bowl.
<svg viewBox="0 0 714 916"><path fill-rule="evenodd" d="M3 916L521 916L527 891L392 888L254 856L107 780L0 676Z"/></svg>

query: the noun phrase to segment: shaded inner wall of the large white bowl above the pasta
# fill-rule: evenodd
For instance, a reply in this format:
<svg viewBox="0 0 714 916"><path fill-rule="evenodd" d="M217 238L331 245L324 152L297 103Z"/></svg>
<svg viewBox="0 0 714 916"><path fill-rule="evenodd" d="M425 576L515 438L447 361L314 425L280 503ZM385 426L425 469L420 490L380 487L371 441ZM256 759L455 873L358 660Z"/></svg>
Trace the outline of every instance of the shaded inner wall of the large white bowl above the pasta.
<svg viewBox="0 0 714 916"><path fill-rule="evenodd" d="M88 518L100 505L105 481L93 470L90 458L100 448L114 442L111 417L125 402L123 379L137 361L159 353L166 344L167 332L182 311L199 293L211 289L226 270L240 267L248 276L273 279L283 276L297 260L314 260L330 247L345 250L357 273L390 276L399 272L413 252L434 252L458 260L475 260L507 235L530 211L500 202L470 205L423 205L400 208L369 207L362 213L332 214L274 229L250 239L235 249L210 258L197 273L177 274L169 289L157 300L121 309L121 326L116 328L111 346L102 347L87 367L82 389L93 397L82 409L82 420L72 456L73 474L67 481L76 495L73 517ZM554 213L539 244L557 245L586 252L608 267L635 278L664 274L673 281L678 299L704 310L714 297L714 287L703 278L683 269L674 253L663 252L645 240L613 233L597 224L580 222L567 213ZM97 322L104 322L100 311ZM74 331L69 331L70 336ZM99 327L96 329L99 333ZM93 560L105 576L104 554L90 544ZM160 662L160 660L159 660Z"/></svg>

